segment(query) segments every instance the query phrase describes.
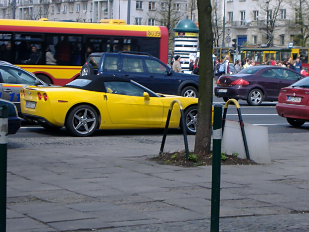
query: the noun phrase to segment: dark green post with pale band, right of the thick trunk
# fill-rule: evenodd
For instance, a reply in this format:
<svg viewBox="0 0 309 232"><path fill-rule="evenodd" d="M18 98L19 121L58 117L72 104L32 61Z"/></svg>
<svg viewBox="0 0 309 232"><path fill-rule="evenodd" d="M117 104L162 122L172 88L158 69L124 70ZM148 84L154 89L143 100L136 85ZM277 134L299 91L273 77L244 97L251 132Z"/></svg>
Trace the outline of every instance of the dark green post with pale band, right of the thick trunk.
<svg viewBox="0 0 309 232"><path fill-rule="evenodd" d="M212 180L210 232L219 232L221 175L222 105L214 104L212 132Z"/></svg>

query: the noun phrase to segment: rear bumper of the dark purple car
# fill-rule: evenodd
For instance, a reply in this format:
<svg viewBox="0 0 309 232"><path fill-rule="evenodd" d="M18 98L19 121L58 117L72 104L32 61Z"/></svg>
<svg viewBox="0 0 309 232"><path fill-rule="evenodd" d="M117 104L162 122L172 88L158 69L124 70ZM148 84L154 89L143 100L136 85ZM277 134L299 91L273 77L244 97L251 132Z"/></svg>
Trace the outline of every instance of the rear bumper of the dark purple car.
<svg viewBox="0 0 309 232"><path fill-rule="evenodd" d="M222 91L226 91L226 92L222 92ZM215 87L216 97L227 97L227 98L246 100L248 98L248 94L249 94L249 90L247 88L244 88L243 85L235 85L233 87L223 87L223 86Z"/></svg>

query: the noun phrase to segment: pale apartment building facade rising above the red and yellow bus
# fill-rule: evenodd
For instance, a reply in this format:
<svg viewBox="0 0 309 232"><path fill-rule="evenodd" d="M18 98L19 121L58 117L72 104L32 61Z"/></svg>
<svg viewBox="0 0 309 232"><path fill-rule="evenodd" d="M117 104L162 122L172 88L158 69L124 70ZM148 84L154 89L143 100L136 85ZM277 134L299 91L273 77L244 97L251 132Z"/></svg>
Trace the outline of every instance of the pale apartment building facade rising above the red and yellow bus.
<svg viewBox="0 0 309 232"><path fill-rule="evenodd" d="M73 20L99 22L100 19L125 19L129 24L160 25L155 11L164 10L161 0L0 0L0 18ZM173 11L186 18L187 0L173 0ZM128 8L130 11L128 13ZM195 9L197 11L197 9ZM129 20L128 20L128 14ZM189 16L188 16L189 17ZM197 20L197 17L194 15ZM130 21L130 22L129 22Z"/></svg>

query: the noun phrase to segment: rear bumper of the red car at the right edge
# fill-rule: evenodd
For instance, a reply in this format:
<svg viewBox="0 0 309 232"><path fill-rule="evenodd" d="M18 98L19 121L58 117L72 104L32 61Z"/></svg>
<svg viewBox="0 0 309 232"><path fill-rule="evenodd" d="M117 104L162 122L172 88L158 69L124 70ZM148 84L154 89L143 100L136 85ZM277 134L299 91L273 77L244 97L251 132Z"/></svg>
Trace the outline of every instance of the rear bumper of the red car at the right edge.
<svg viewBox="0 0 309 232"><path fill-rule="evenodd" d="M276 110L281 117L309 120L309 106L278 103Z"/></svg>

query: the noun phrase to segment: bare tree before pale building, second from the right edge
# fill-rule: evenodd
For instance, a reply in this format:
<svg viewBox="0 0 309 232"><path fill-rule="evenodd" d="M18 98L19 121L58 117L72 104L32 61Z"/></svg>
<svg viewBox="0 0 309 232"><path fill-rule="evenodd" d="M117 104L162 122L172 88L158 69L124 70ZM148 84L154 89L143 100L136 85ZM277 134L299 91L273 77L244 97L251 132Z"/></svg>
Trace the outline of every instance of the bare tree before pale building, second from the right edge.
<svg viewBox="0 0 309 232"><path fill-rule="evenodd" d="M266 19L266 27L263 28L266 34L267 44L270 44L274 38L274 31L276 30L276 23L281 15L281 7L284 0L259 0L257 8L260 8L259 16Z"/></svg>

